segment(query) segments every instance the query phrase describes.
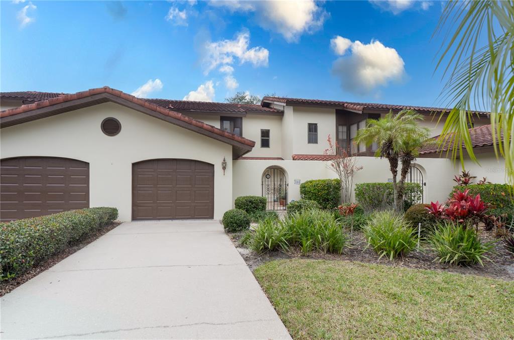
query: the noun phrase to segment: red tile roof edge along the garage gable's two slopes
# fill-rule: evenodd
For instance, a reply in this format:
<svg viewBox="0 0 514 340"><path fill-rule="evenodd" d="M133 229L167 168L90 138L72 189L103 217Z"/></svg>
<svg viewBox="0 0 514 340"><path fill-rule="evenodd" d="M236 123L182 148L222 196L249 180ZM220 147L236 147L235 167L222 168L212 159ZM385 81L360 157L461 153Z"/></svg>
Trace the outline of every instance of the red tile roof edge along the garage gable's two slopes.
<svg viewBox="0 0 514 340"><path fill-rule="evenodd" d="M115 90L114 88L111 88L108 86L104 86L104 87L100 87L100 88L91 88L90 90L77 92L75 94L67 94L67 95L61 95L61 96L57 96L57 97L51 97L51 98L48 98L48 99L45 99L42 101L36 101L32 104L26 104L26 105L19 106L17 108L12 108L12 109L8 109L5 111L1 111L0 119L4 118L4 117L9 117L9 116L29 112L29 111L36 110L36 109L45 108L47 106L60 104L60 103L64 103L64 102L68 102L68 101L72 101L72 100L76 100L76 99L86 98L86 97L90 97L90 96L94 96L94 95L98 95L98 94L102 94L102 93L107 93L107 94L114 95L116 97L120 97L120 98L128 100L128 101L131 101L135 104L143 106L146 109L150 109L150 110L158 112L162 115L166 115L166 116L190 123L193 126L199 127L206 131L210 131L219 136L224 136L226 138L238 141L249 147L255 146L255 142L253 140L246 139L244 137L235 135L233 133L229 133L227 131L223 131L223 130L215 128L209 124L206 124L204 122L195 120L189 116L182 115L181 113L162 108L162 106L156 105L150 101L134 97L132 95L123 93L119 90Z"/></svg>

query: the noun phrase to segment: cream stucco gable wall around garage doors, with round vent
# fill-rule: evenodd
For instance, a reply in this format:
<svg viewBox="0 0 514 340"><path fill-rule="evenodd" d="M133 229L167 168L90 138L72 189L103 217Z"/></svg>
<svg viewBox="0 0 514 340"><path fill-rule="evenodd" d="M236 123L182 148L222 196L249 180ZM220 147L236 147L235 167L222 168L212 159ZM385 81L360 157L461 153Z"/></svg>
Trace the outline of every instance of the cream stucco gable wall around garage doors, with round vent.
<svg viewBox="0 0 514 340"><path fill-rule="evenodd" d="M101 131L106 117L121 122L117 136ZM233 202L230 145L114 103L4 128L0 154L88 162L90 206L117 207L121 221L132 218L132 164L145 159L186 158L214 164L214 218L221 218ZM225 175L223 157L228 163Z"/></svg>

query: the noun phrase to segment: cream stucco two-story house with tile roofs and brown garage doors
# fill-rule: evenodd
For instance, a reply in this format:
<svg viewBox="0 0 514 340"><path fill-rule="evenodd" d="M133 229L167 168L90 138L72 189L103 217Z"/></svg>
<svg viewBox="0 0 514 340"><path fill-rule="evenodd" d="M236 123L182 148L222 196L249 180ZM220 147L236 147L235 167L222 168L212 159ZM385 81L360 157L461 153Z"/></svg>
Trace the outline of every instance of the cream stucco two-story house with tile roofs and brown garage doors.
<svg viewBox="0 0 514 340"><path fill-rule="evenodd" d="M2 220L88 206L113 206L122 221L219 219L241 195L267 196L270 209L300 199L300 184L335 178L331 135L358 157L355 183L387 182L376 146L353 139L365 119L411 108L437 136L444 109L265 97L260 105L141 99L109 87L76 94L1 94ZM434 118L434 115L436 118ZM504 183L487 113L474 115L474 175ZM503 161L502 161L503 162ZM424 201L444 200L460 164L426 148L409 181Z"/></svg>

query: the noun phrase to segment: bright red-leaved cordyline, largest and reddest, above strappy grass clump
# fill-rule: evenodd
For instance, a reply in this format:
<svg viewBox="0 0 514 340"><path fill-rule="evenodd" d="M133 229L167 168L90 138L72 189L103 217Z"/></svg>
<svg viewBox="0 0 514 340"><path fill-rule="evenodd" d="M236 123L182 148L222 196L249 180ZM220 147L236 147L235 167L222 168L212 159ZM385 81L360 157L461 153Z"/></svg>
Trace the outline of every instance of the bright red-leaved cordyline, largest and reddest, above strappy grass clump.
<svg viewBox="0 0 514 340"><path fill-rule="evenodd" d="M454 192L445 206L439 202L431 202L427 207L428 212L435 217L459 223L471 222L473 225L485 219L488 209L489 204L482 201L480 194L470 195L469 189Z"/></svg>

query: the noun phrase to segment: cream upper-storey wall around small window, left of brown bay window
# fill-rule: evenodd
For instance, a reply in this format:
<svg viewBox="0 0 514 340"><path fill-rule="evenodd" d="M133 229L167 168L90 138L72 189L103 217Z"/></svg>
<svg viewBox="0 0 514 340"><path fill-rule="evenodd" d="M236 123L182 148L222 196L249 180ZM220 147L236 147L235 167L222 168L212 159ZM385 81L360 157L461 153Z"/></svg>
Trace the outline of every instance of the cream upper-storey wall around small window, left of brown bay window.
<svg viewBox="0 0 514 340"><path fill-rule="evenodd" d="M292 123L292 153L320 155L328 148L328 135L334 138L336 133L336 110L295 106ZM318 124L318 144L307 143L308 123Z"/></svg>

